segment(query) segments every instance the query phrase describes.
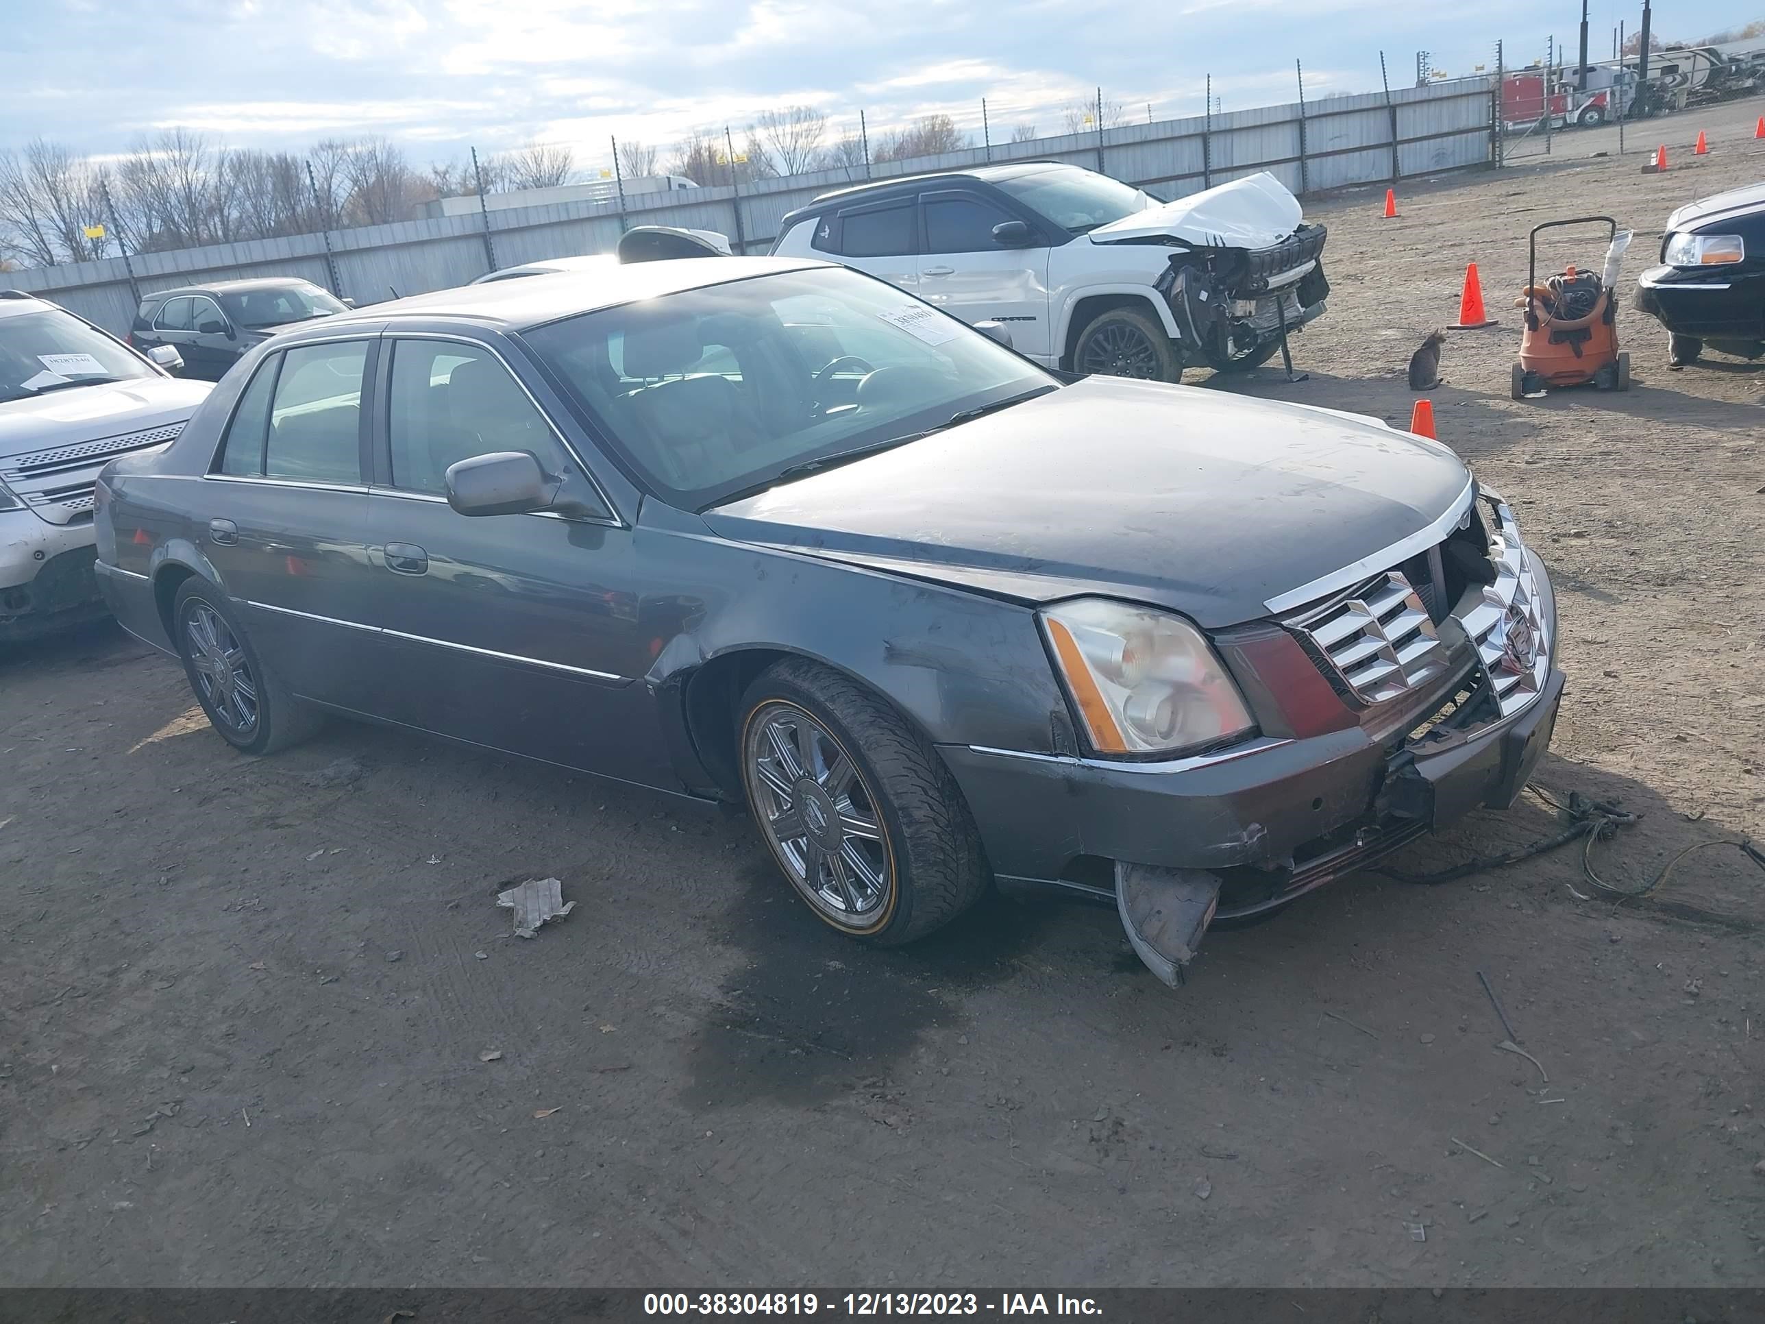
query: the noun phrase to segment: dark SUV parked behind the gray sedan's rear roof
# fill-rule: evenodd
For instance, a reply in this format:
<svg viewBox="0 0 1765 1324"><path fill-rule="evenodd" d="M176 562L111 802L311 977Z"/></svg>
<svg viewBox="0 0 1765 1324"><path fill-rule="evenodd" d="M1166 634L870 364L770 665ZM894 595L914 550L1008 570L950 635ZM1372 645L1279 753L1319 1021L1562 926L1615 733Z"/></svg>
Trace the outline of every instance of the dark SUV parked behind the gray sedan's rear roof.
<svg viewBox="0 0 1765 1324"><path fill-rule="evenodd" d="M184 376L219 381L272 330L348 307L349 300L288 275L159 290L136 309L129 344L141 351L169 344L184 355Z"/></svg>

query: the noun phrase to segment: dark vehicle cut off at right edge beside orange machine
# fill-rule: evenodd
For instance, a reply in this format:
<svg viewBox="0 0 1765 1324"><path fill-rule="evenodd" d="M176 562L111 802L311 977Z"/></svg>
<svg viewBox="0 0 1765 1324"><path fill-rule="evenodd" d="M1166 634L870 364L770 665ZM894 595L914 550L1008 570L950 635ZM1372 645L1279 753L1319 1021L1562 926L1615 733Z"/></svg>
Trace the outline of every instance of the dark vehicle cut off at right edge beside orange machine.
<svg viewBox="0 0 1765 1324"><path fill-rule="evenodd" d="M1636 282L1636 307L1668 332L1668 360L1705 346L1740 358L1765 353L1765 184L1680 207L1666 219L1661 265Z"/></svg>

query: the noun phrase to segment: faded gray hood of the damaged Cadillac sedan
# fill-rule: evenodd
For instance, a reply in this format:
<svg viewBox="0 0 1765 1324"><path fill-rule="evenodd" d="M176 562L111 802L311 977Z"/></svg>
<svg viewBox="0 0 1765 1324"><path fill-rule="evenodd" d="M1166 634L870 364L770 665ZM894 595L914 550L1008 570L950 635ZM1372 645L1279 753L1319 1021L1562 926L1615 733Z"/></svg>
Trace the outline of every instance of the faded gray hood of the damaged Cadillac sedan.
<svg viewBox="0 0 1765 1324"><path fill-rule="evenodd" d="M1110 593L1220 628L1417 533L1468 480L1446 447L1375 418L1087 378L704 521L995 597Z"/></svg>

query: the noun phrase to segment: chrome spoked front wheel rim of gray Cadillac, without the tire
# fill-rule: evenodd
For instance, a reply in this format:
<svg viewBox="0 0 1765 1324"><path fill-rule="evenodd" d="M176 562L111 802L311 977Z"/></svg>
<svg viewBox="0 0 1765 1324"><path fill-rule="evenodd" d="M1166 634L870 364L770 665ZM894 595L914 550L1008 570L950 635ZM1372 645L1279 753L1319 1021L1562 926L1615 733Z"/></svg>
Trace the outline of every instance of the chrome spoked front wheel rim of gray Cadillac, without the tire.
<svg viewBox="0 0 1765 1324"><path fill-rule="evenodd" d="M893 909L893 860L875 798L828 729L789 703L748 717L743 771L780 867L838 929L868 932Z"/></svg>

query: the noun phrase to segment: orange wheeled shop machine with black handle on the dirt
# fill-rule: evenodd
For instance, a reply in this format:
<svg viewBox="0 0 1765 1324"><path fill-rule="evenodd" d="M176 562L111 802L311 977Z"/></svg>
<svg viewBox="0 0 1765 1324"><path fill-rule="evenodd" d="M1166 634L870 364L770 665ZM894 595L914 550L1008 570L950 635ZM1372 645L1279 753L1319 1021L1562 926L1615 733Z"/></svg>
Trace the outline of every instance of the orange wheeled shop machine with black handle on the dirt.
<svg viewBox="0 0 1765 1324"><path fill-rule="evenodd" d="M1603 270L1596 274L1569 267L1539 284L1539 231L1596 222L1606 226ZM1525 309L1513 381L1516 401L1558 387L1631 388L1631 357L1619 350L1617 305L1611 298L1629 242L1631 231L1619 231L1619 222L1610 215L1578 215L1573 221L1532 226L1527 288L1516 300Z"/></svg>

